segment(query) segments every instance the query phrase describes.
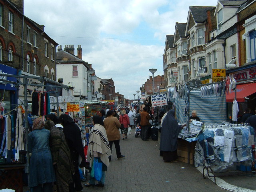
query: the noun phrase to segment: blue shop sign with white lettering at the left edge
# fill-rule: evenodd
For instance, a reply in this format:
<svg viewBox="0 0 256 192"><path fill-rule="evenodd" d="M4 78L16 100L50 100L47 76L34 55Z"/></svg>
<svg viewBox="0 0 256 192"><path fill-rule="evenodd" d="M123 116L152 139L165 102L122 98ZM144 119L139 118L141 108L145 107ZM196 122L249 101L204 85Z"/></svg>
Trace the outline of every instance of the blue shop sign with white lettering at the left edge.
<svg viewBox="0 0 256 192"><path fill-rule="evenodd" d="M0 80L8 80L8 81L13 81L17 82L15 77L6 77L6 76L1 76L1 74L12 74L16 75L17 70L13 67L9 67L3 64L0 64ZM17 90L14 84L0 84L0 89L5 89L5 90Z"/></svg>

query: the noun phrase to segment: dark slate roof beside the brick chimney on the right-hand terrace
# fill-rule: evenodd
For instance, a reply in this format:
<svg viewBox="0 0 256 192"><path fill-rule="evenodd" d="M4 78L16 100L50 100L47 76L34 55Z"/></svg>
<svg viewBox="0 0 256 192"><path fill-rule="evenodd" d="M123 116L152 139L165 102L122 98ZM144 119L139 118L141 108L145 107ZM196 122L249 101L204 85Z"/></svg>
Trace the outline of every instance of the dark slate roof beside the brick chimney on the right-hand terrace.
<svg viewBox="0 0 256 192"><path fill-rule="evenodd" d="M207 11L214 9L215 7L191 6L189 8L194 22L203 23L207 19Z"/></svg>

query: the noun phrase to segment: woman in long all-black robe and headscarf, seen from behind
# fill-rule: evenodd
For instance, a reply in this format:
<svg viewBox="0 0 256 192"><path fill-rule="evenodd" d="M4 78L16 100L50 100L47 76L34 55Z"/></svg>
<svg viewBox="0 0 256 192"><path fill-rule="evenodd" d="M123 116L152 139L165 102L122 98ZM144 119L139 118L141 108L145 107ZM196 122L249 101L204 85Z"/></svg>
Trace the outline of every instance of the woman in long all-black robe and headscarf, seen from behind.
<svg viewBox="0 0 256 192"><path fill-rule="evenodd" d="M84 167L86 165L86 161L80 129L73 119L67 114L61 114L59 121L63 125L63 133L65 135L75 169L75 174L73 175L74 183L70 184L69 187L70 190L75 188L76 191L82 191L83 187L80 180L78 166Z"/></svg>

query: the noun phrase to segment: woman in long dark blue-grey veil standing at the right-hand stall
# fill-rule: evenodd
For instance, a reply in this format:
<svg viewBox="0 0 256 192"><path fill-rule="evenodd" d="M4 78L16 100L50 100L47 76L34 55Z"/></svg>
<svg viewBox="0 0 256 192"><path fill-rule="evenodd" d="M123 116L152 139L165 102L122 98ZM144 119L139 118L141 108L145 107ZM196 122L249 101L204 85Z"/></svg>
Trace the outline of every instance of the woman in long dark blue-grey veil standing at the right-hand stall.
<svg viewBox="0 0 256 192"><path fill-rule="evenodd" d="M160 154L162 154L164 162L177 162L177 138L182 127L174 118L174 110L169 110L162 122Z"/></svg>

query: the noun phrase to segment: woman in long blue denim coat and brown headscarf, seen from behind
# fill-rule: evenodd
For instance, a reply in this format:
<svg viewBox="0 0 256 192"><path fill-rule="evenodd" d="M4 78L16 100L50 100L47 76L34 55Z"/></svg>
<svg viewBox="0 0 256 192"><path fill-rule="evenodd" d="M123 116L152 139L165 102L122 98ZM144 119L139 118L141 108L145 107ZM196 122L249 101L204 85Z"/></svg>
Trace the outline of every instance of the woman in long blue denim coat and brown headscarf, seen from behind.
<svg viewBox="0 0 256 192"><path fill-rule="evenodd" d="M49 137L50 131L44 129L43 119L36 118L33 122L33 130L28 134L28 151L32 154L28 185L33 192L52 191L53 182L56 181Z"/></svg>

